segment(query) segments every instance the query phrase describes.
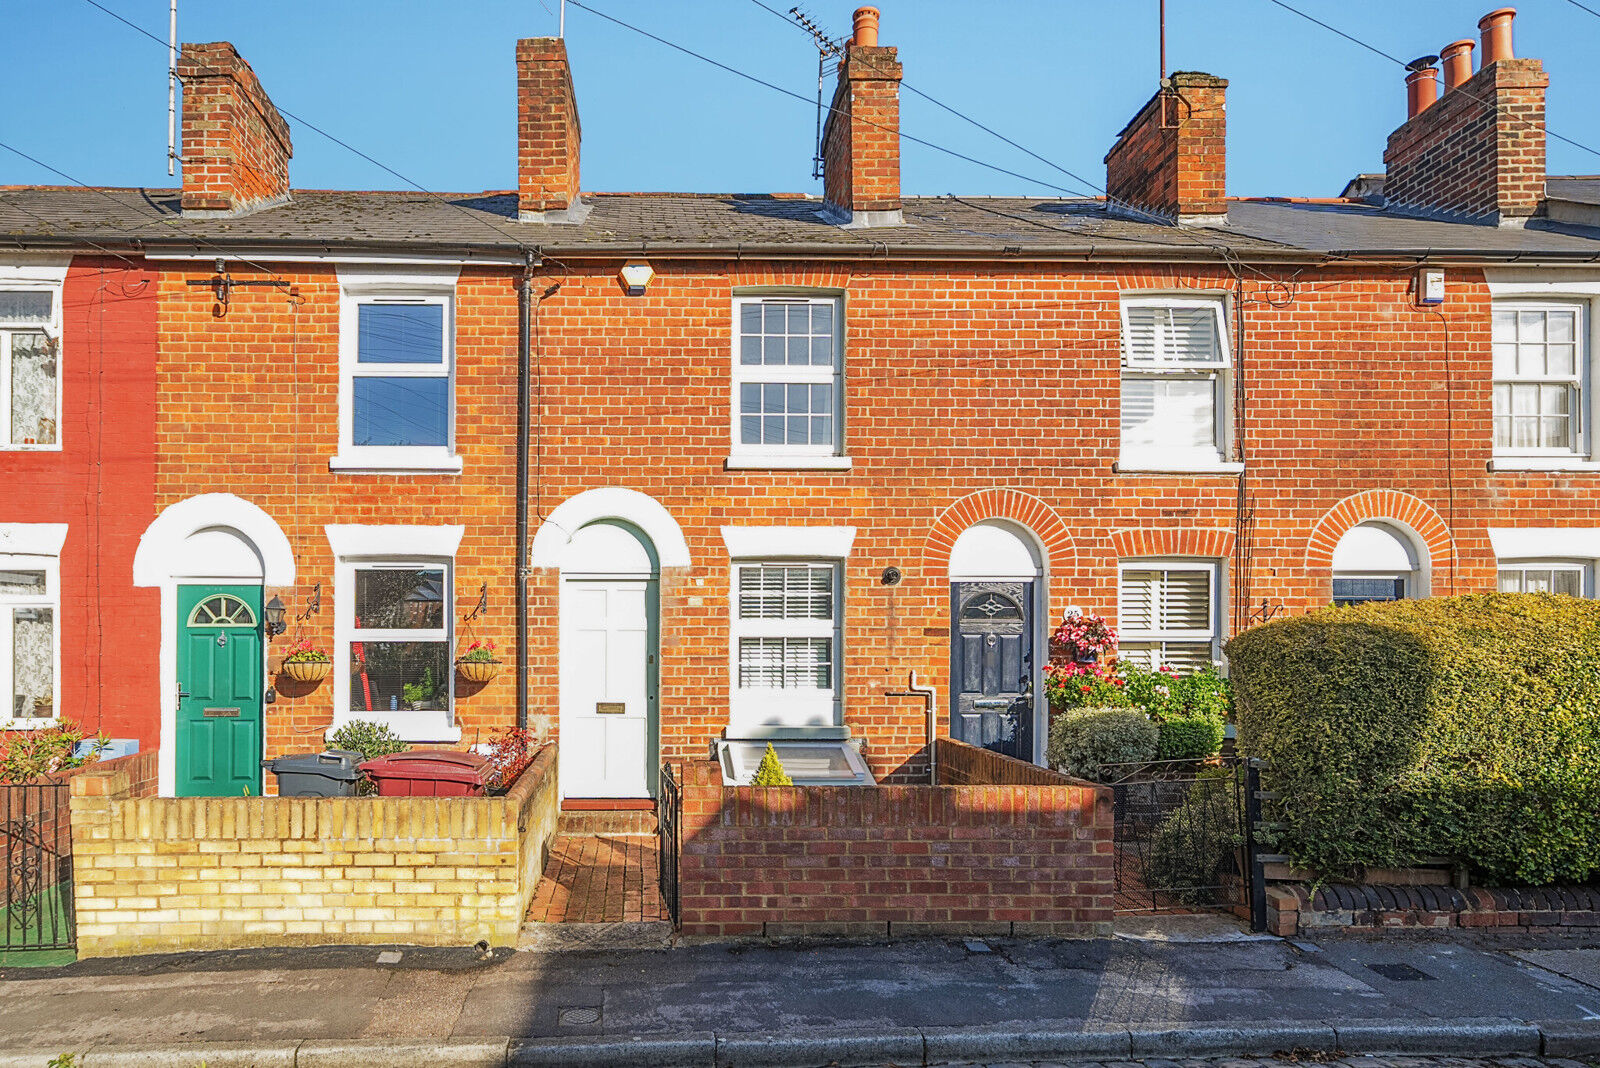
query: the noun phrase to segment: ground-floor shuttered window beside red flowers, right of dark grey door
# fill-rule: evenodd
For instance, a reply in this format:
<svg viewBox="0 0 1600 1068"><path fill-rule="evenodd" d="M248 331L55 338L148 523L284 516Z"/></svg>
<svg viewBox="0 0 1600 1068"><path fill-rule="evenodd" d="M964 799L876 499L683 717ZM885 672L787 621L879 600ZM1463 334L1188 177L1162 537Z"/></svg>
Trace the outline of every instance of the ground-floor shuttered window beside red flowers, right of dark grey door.
<svg viewBox="0 0 1600 1068"><path fill-rule="evenodd" d="M1118 656L1179 673L1218 659L1216 564L1122 564L1117 585Z"/></svg>

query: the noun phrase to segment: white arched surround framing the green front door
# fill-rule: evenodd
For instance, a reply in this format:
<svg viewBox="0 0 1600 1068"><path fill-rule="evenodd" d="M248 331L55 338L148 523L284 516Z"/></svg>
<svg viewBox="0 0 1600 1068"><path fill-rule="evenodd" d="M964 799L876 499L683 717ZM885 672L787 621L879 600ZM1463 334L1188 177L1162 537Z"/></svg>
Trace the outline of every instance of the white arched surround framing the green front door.
<svg viewBox="0 0 1600 1068"><path fill-rule="evenodd" d="M178 587L294 585L294 553L258 505L234 494L200 494L168 505L146 528L133 556L133 584L162 592L160 692L150 697L162 710L158 790L171 796L178 767Z"/></svg>

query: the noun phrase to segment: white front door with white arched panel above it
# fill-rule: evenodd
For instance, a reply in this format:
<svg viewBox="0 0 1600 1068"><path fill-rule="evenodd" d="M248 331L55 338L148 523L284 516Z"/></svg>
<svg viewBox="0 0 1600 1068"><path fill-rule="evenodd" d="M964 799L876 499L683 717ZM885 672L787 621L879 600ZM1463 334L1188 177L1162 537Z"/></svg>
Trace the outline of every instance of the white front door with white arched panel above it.
<svg viewBox="0 0 1600 1068"><path fill-rule="evenodd" d="M597 518L560 545L562 796L645 799L661 753L661 558L634 523Z"/></svg>

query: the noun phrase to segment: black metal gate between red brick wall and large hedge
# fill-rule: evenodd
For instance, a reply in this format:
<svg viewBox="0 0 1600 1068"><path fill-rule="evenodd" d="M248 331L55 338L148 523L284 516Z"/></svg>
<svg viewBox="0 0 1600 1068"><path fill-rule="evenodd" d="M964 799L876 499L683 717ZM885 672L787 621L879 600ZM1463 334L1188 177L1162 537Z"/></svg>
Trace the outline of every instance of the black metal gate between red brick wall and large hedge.
<svg viewBox="0 0 1600 1068"><path fill-rule="evenodd" d="M1117 911L1254 919L1253 779L1237 756L1101 764L1112 788Z"/></svg>

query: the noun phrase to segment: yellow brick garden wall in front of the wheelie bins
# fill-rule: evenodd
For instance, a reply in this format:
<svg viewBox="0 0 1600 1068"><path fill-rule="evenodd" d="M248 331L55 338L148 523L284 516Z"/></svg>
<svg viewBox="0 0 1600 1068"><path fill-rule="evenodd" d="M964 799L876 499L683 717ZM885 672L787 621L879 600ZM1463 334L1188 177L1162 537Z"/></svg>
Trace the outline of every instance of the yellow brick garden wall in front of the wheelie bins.
<svg viewBox="0 0 1600 1068"><path fill-rule="evenodd" d="M515 945L557 823L555 747L502 798L133 798L72 779L78 956Z"/></svg>

